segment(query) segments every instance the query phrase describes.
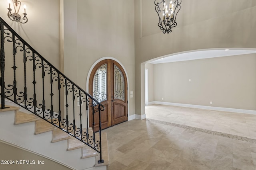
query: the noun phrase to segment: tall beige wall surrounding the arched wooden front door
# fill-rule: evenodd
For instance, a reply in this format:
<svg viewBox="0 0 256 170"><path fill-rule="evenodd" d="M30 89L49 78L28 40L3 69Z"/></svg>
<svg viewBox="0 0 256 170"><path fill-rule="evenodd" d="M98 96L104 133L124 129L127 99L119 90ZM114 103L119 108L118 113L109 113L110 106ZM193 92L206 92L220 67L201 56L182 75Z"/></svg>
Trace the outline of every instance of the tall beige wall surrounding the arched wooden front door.
<svg viewBox="0 0 256 170"><path fill-rule="evenodd" d="M69 35L64 27L65 74L86 89L92 65L102 57L113 57L124 66L129 91L134 92L134 1L77 0L71 6L70 3L64 1L64 25L72 31ZM76 18L73 20L68 14ZM129 114L133 115L134 98L129 98L129 106Z"/></svg>

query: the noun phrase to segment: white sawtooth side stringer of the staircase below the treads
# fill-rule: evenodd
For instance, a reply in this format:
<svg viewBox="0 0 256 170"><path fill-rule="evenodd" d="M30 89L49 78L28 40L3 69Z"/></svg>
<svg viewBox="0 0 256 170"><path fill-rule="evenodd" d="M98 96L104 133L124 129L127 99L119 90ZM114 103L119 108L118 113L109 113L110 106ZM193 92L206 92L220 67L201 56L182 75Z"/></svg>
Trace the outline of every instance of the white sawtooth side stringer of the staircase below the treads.
<svg viewBox="0 0 256 170"><path fill-rule="evenodd" d="M81 159L81 149L67 151L67 141L51 143L52 132L34 135L34 122L14 125L15 111L0 113L0 138L74 170L98 169L95 157ZM101 167L105 168L106 167Z"/></svg>

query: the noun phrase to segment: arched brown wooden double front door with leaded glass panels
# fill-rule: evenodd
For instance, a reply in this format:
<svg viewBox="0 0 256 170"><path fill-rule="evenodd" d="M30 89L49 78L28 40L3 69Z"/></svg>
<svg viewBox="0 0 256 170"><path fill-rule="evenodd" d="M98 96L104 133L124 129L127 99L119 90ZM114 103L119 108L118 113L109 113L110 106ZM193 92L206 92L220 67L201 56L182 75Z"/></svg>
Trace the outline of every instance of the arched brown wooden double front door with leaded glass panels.
<svg viewBox="0 0 256 170"><path fill-rule="evenodd" d="M96 64L89 79L89 94L105 107L100 114L102 129L128 120L127 79L119 63L107 59ZM95 131L99 126L97 113L94 115ZM89 113L89 123L92 127L92 112Z"/></svg>

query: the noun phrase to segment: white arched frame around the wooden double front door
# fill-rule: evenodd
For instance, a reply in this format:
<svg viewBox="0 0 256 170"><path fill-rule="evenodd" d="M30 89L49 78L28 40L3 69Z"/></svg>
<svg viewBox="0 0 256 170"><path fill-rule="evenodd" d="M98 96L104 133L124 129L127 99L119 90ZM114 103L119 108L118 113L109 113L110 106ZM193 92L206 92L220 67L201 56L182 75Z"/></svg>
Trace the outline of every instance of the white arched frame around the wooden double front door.
<svg viewBox="0 0 256 170"><path fill-rule="evenodd" d="M132 118L130 118L130 88L129 88L129 78L128 78L128 74L127 74L127 72L126 72L126 69L125 69L125 67L124 67L124 65L120 62L120 61L118 61L118 59L115 59L115 58L113 58L113 57L102 57L102 58L100 58L100 59L98 59L97 61L95 61L93 64L92 64L92 66L91 66L91 68L90 68L90 70L89 70L89 72L88 72L88 74L87 74L87 78L86 78L86 92L89 92L89 79L90 79L90 75L91 75L91 73L92 73L92 70L93 70L93 68L96 66L96 64L98 64L100 61L102 61L102 60L106 60L106 59L110 59L110 60L114 60L114 61L116 61L118 64L120 64L121 66L122 66L122 68L124 69L124 74L126 75L126 80L127 80L127 101L128 101L128 104L127 104L127 115L128 115L128 121L129 120L132 120ZM89 117L89 113L87 113L88 114L88 117ZM87 124L89 125L89 119L87 120Z"/></svg>

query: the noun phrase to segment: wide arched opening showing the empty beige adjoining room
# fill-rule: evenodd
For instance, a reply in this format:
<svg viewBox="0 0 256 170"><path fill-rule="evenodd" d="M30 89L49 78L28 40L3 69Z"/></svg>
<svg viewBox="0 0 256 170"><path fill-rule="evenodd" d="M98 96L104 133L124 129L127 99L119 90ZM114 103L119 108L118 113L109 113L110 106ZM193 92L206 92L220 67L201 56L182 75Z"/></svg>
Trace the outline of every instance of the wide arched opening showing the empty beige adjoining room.
<svg viewBox="0 0 256 170"><path fill-rule="evenodd" d="M152 59L142 64L148 70L148 103L256 114L255 63L252 48L202 49Z"/></svg>

